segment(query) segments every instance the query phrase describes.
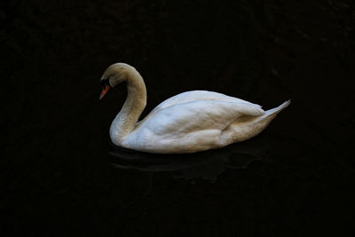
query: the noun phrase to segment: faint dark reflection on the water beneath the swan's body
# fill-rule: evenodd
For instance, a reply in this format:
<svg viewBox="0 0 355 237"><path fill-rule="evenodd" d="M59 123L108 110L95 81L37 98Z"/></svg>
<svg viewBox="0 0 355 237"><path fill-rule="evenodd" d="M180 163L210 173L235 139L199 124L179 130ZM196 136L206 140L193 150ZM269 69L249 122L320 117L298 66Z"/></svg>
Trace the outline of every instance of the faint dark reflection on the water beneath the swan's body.
<svg viewBox="0 0 355 237"><path fill-rule="evenodd" d="M147 154L111 144L108 154L115 168L146 172L173 172L174 178L215 181L227 169L245 169L261 157L238 151L235 146L195 154Z"/></svg>

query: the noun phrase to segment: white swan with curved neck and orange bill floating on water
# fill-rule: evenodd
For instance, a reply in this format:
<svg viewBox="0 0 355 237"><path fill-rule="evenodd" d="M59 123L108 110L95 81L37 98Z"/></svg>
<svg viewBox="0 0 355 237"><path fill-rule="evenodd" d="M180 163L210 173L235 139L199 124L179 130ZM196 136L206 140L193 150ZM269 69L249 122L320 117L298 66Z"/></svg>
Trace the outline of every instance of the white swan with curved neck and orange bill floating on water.
<svg viewBox="0 0 355 237"><path fill-rule="evenodd" d="M146 85L136 68L115 63L100 83L102 99L118 83L127 83L127 99L109 136L115 146L153 153L186 154L216 149L253 138L290 100L264 111L243 99L212 91L186 91L166 99L138 122L146 107Z"/></svg>

